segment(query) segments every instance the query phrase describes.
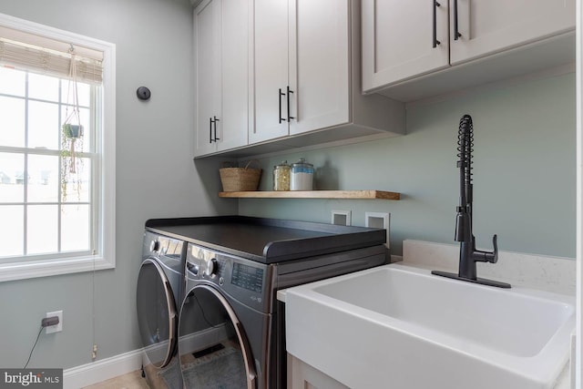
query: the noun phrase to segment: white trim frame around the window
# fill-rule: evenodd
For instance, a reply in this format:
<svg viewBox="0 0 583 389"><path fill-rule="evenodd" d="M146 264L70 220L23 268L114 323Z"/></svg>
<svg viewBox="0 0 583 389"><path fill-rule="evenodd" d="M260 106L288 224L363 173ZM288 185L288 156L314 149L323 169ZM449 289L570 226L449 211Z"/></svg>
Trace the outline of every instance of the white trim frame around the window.
<svg viewBox="0 0 583 389"><path fill-rule="evenodd" d="M116 267L116 46L87 36L80 36L50 26L0 14L0 26L27 33L65 40L73 45L86 46L104 55L102 139L97 142L101 160L102 181L99 193L102 206L97 216L98 254L73 259L43 261L14 261L0 264L0 282L45 277L57 274L112 269ZM107 136L106 136L107 132Z"/></svg>

